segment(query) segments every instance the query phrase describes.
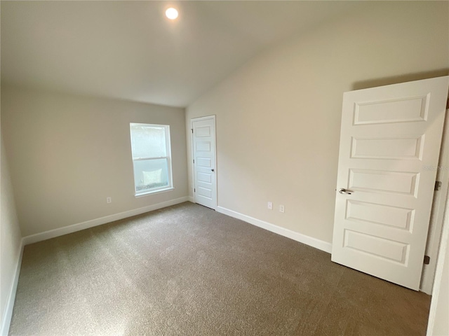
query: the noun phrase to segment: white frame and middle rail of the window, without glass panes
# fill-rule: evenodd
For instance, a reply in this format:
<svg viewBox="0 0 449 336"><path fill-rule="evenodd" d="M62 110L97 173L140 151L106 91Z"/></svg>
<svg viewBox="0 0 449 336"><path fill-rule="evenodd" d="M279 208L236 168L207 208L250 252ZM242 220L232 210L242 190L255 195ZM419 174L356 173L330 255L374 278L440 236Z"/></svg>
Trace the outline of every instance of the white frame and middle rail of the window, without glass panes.
<svg viewBox="0 0 449 336"><path fill-rule="evenodd" d="M160 127L165 129L165 142L166 142L166 156L150 156L145 158L134 158L133 155L133 132L132 127L133 126L146 126L146 127ZM146 195L151 195L155 193L163 193L166 191L170 191L175 189L173 187L173 169L172 169L172 159L171 159L171 141L170 141L170 125L160 125L160 124L147 124L147 123L129 123L129 135L130 135L130 148L131 148L131 160L133 162L133 185L134 185L134 196L135 197L142 197ZM166 159L167 160L167 180L168 180L168 186L161 186L156 188L151 188L149 190L145 190L142 193L139 193L136 190L136 184L135 184L135 169L134 169L134 162L135 161L144 161L144 160L161 160Z"/></svg>

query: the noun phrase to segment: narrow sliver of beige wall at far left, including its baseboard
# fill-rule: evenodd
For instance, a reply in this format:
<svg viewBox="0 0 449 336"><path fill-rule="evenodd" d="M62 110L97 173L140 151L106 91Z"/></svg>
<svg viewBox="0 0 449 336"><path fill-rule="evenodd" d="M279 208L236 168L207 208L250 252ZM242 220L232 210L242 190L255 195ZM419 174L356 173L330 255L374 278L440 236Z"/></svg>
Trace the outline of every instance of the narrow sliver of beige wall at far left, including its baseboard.
<svg viewBox="0 0 449 336"><path fill-rule="evenodd" d="M20 258L22 235L15 212L13 189L3 141L1 141L0 154L0 328L1 335L4 335L8 331L7 328L11 318L11 310L6 311L6 308L8 303L13 304L13 297L15 296L13 286L15 280L17 280L15 275ZM13 295L13 297L10 298L10 295ZM12 306L8 308L12 309Z"/></svg>

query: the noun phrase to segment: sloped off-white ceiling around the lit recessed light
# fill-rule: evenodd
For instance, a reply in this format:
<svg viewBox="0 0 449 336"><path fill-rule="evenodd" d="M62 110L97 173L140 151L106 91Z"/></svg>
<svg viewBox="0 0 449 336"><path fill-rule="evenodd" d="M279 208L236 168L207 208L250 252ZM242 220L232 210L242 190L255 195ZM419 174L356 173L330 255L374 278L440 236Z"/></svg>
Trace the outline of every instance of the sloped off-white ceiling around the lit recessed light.
<svg viewBox="0 0 449 336"><path fill-rule="evenodd" d="M187 106L264 48L360 5L1 1L1 82Z"/></svg>

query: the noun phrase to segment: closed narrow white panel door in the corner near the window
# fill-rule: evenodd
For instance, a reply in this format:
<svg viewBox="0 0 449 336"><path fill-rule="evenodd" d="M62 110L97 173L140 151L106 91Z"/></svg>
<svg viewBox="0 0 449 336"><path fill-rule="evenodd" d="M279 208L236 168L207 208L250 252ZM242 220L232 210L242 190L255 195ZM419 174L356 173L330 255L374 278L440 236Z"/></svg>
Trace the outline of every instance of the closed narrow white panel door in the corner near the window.
<svg viewBox="0 0 449 336"><path fill-rule="evenodd" d="M192 119L195 203L217 207L215 116Z"/></svg>

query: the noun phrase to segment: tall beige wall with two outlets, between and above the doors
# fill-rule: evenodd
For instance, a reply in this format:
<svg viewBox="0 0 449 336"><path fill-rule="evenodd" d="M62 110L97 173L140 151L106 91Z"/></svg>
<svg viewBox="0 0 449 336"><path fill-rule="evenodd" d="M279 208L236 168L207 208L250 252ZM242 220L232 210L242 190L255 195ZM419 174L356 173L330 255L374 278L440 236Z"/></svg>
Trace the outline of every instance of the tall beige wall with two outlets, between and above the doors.
<svg viewBox="0 0 449 336"><path fill-rule="evenodd" d="M343 92L443 76L448 43L447 2L377 1L232 73L186 113L217 116L218 206L332 241Z"/></svg>

